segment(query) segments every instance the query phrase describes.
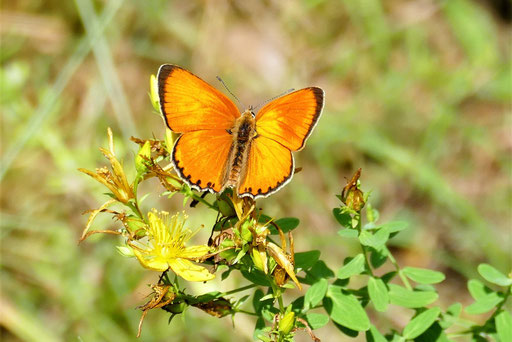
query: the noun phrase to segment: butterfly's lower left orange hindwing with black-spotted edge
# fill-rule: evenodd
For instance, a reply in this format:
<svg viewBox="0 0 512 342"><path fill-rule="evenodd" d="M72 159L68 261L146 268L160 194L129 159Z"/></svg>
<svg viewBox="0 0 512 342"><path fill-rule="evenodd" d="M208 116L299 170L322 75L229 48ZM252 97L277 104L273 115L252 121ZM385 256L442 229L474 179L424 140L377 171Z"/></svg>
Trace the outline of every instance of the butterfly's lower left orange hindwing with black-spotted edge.
<svg viewBox="0 0 512 342"><path fill-rule="evenodd" d="M174 145L174 168L192 188L219 192L232 143L233 138L225 130L185 133Z"/></svg>

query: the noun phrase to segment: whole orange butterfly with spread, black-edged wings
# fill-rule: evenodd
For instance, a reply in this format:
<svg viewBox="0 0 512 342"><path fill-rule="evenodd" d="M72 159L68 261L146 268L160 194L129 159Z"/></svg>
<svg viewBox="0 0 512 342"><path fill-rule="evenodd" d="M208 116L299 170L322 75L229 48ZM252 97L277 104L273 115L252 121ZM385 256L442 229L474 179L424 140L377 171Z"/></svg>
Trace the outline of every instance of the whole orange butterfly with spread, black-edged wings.
<svg viewBox="0 0 512 342"><path fill-rule="evenodd" d="M170 64L158 70L159 106L169 129L181 133L171 159L181 179L199 191L234 188L239 197L267 197L294 172L324 106L324 91L309 87L241 113L223 93Z"/></svg>

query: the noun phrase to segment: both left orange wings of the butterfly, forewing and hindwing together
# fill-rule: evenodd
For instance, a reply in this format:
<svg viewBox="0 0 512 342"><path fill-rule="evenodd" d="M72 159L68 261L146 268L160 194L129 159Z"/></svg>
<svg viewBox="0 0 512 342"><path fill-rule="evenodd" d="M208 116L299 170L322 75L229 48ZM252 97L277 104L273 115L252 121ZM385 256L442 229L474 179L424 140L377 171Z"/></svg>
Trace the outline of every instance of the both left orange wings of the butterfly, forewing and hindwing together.
<svg viewBox="0 0 512 342"><path fill-rule="evenodd" d="M238 109L199 77L170 64L158 71L158 95L167 126L183 133L172 152L176 172L197 190L219 192L233 141L227 130Z"/></svg>

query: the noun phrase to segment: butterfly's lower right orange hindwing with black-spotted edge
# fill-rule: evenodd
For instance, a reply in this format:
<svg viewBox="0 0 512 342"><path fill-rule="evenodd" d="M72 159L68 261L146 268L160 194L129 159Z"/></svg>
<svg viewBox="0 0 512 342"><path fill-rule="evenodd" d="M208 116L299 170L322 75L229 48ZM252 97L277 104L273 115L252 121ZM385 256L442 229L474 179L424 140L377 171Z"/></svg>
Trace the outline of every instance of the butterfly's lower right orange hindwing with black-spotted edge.
<svg viewBox="0 0 512 342"><path fill-rule="evenodd" d="M293 168L293 156L288 148L258 136L251 142L238 194L240 197L266 197L288 183Z"/></svg>

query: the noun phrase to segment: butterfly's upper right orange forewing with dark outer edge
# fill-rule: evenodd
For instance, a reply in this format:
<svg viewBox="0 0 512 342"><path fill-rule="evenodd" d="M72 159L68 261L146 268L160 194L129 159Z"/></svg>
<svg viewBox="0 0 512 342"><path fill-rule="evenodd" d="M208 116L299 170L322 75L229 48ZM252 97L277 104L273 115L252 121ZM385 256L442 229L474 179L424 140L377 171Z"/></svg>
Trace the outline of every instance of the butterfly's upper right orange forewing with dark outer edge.
<svg viewBox="0 0 512 342"><path fill-rule="evenodd" d="M324 91L311 87L294 91L264 106L256 115L258 135L301 150L324 106Z"/></svg>

